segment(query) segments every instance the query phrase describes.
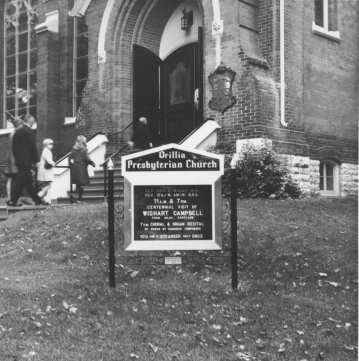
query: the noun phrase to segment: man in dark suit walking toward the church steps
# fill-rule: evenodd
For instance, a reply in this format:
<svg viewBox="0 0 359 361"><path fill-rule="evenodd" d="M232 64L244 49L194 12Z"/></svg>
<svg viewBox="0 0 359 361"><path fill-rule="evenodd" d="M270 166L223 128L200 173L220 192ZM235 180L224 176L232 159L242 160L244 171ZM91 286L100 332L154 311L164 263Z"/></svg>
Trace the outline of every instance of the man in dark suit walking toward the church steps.
<svg viewBox="0 0 359 361"><path fill-rule="evenodd" d="M14 178L11 200L8 202L10 206L17 206L23 189L26 189L36 205L42 204L33 182L33 170L39 161L36 137L32 129L34 124L35 118L27 114L23 125L16 129L12 139L12 152L18 172Z"/></svg>

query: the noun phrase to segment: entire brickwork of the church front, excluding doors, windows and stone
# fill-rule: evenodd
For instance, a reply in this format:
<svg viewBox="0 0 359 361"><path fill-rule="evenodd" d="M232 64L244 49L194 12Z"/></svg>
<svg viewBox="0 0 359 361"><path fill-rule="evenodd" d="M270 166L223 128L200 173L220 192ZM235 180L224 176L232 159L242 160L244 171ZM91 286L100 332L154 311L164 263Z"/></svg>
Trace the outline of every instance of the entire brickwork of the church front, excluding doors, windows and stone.
<svg viewBox="0 0 359 361"><path fill-rule="evenodd" d="M236 72L233 94L237 98L235 106L220 114L208 107L212 97L208 76L216 65L212 1L198 0L204 23L204 117L213 117L221 124L220 139L233 149L236 139L264 137L272 139L275 150L283 154L317 160L336 150L341 162L353 163L357 161L359 98L357 1L339 2L339 42L312 32L312 0L285 1L288 128L283 128L279 121L279 2L220 2L224 20L222 61ZM42 54L38 63L38 72L42 74L38 89L39 140L53 137L56 153L61 155L80 133L90 136L113 132L131 122L132 46L139 44L158 53L161 33L179 3L179 0L159 0L155 4L152 0L115 1L106 33L107 61L98 64L98 34L106 1L91 1L86 12L89 79L79 122L64 127L65 116L71 115L73 19L68 11L73 0L42 2L39 22L45 19L46 12L59 10L60 33L39 35ZM126 132L117 143L130 136L131 131ZM117 146L116 139L113 144Z"/></svg>

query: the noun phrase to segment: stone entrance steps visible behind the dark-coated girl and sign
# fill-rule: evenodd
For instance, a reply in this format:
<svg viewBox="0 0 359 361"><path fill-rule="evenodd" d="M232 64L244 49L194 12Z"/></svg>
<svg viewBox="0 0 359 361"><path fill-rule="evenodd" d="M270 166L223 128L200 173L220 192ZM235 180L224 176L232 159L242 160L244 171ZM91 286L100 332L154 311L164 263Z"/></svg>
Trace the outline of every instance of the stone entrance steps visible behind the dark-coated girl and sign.
<svg viewBox="0 0 359 361"><path fill-rule="evenodd" d="M77 194L75 194L75 198ZM123 177L121 168L114 168L114 197L116 200L123 199ZM104 202L104 171L96 170L93 177L90 178L90 184L84 187L84 202ZM70 195L66 198L58 198L57 203L71 203Z"/></svg>

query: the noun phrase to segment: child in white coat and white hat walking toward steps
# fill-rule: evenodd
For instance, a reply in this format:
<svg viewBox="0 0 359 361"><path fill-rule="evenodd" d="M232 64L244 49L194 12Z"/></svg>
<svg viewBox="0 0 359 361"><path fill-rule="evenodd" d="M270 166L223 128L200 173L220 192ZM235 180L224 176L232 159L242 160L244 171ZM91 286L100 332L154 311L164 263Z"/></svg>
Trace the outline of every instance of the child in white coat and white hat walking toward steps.
<svg viewBox="0 0 359 361"><path fill-rule="evenodd" d="M41 187L38 196L43 200L44 203L50 203L50 200L48 199L48 193L51 188L51 182L54 179L55 162L52 156L54 141L52 139L45 139L42 142L42 145L43 150L37 171L37 180Z"/></svg>

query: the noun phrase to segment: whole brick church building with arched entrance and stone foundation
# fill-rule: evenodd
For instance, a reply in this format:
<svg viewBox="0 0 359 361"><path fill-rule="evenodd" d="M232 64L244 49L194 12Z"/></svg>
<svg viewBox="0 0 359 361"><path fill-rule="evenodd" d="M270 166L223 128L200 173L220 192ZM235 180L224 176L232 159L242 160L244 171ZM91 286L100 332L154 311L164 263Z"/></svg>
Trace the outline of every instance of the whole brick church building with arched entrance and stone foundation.
<svg viewBox="0 0 359 361"><path fill-rule="evenodd" d="M265 145L304 192L357 192L357 0L3 0L0 19L0 167L12 117L57 158L147 117L154 144Z"/></svg>

